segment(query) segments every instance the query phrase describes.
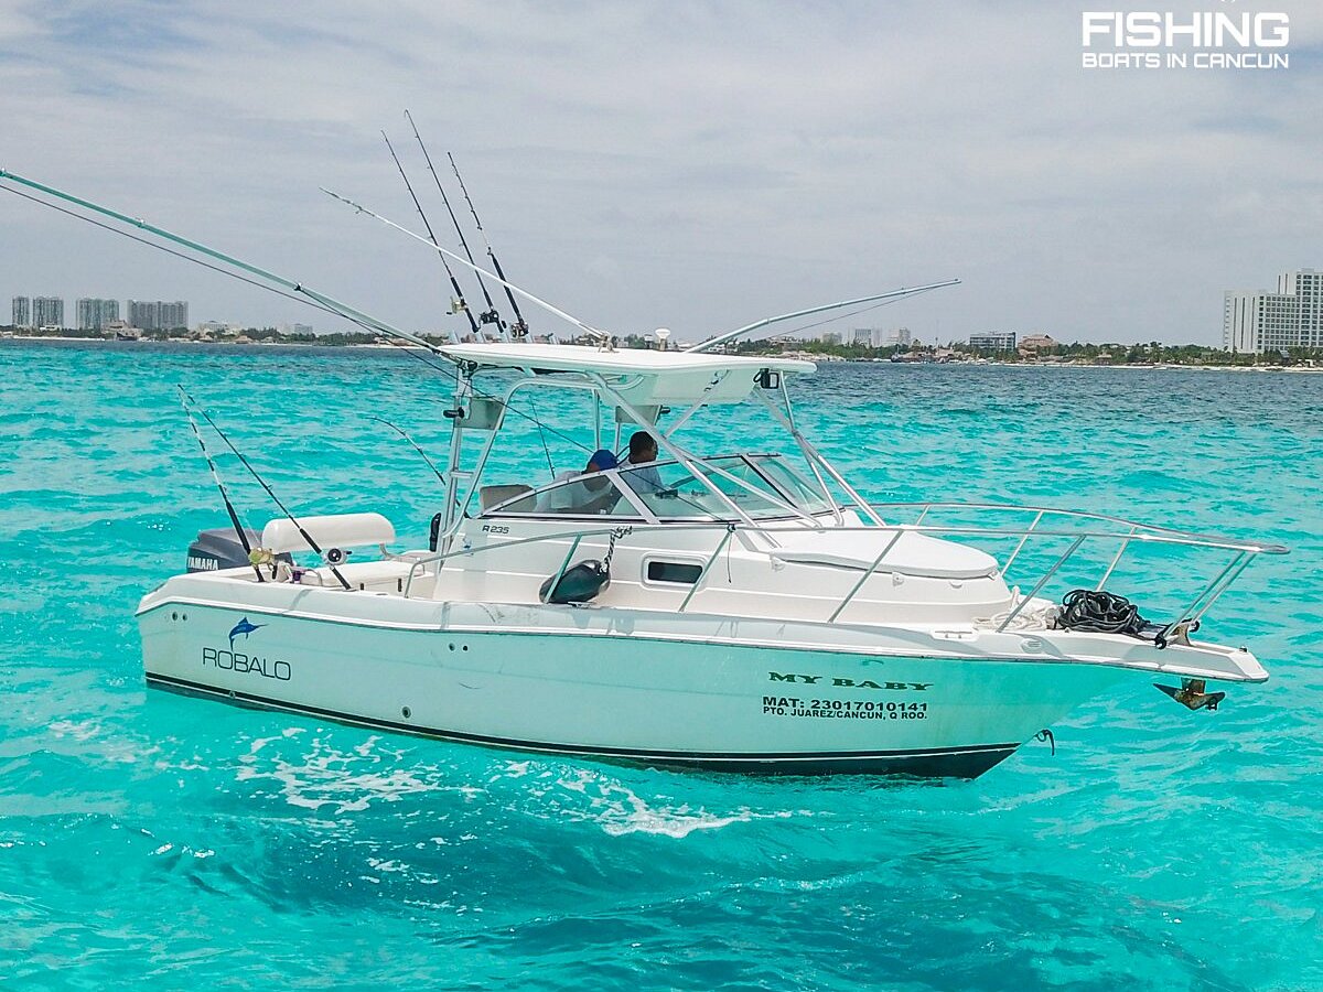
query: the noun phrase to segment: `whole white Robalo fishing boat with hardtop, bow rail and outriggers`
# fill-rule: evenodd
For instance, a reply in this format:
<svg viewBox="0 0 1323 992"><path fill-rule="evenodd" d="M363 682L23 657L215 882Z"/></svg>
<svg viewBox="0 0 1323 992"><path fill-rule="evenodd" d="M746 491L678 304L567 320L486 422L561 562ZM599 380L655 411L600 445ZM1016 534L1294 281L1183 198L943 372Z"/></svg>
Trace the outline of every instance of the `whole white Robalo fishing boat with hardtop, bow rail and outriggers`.
<svg viewBox="0 0 1323 992"><path fill-rule="evenodd" d="M427 546L397 546L370 505L308 516L279 504L250 533L221 485L233 534L200 534L189 571L138 610L151 685L520 751L975 776L1134 682L1176 682L1159 688L1195 710L1217 706L1216 684L1267 677L1246 648L1192 635L1258 554L1285 549L1039 507L869 504L798 427L789 382L814 365L718 353L777 320L938 284L769 317L688 351L618 349L434 245L597 341L434 347L146 221L0 179L300 294L454 370ZM523 327L497 323L491 336ZM582 471L503 474L491 455L515 401L566 392L593 410L589 423L557 425L593 452ZM703 418L736 403L762 414L755 435L704 450ZM1164 622L1106 590L1127 569L1139 586L1171 577L1146 590L1146 611Z"/></svg>

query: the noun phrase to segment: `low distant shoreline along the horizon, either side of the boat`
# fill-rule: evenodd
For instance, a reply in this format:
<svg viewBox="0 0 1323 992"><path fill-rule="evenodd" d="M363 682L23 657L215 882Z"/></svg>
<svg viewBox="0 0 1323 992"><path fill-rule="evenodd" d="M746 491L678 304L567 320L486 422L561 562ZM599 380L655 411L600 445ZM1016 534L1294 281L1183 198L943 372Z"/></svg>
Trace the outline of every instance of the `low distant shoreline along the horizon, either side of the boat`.
<svg viewBox="0 0 1323 992"><path fill-rule="evenodd" d="M320 348L327 352L415 352L422 351L418 345L411 344L382 344L382 343L327 343L320 341L196 341L189 339L142 339L142 340L119 340L114 337L69 337L64 335L4 335L0 336L0 345L15 343L15 344L62 344L62 345L86 345L89 348L103 348L106 345L120 347L124 349L139 348L139 347L165 347L165 348L217 348L225 351L239 351L242 353L249 353L253 351L265 351L269 348L282 348L282 349L298 349L298 348ZM439 343L438 343L439 344ZM554 347L554 345L550 345ZM759 357L759 356L747 356ZM999 368L999 369L1127 369L1131 372L1290 372L1290 373L1323 373L1323 366L1308 368L1299 365L1218 365L1213 362L1204 362L1200 365L1181 365L1181 364L1144 364L1144 362L1086 362L1086 361L996 361L995 358L987 358L983 361L946 361L946 362L893 362L885 358L837 358L827 356L806 356L810 361L816 361L819 365L900 365L900 366L949 366L949 368Z"/></svg>

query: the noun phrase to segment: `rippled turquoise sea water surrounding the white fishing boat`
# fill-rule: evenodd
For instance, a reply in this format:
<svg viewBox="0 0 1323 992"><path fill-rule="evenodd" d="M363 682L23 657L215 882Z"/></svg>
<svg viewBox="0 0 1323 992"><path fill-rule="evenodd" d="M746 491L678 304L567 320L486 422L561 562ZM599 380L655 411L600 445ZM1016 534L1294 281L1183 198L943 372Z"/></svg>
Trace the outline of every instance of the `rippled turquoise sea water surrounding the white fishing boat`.
<svg viewBox="0 0 1323 992"><path fill-rule="evenodd" d="M0 344L4 988L1323 988L1323 378L798 384L878 500L1291 548L1203 632L1271 681L1213 714L1140 684L1058 725L1054 757L954 783L617 767L146 692L134 607L225 522L175 382L299 509L381 509L414 545L435 511L422 460L364 419L439 460L441 377L401 353ZM545 472L525 440L503 464ZM1172 578L1154 567L1136 587Z"/></svg>

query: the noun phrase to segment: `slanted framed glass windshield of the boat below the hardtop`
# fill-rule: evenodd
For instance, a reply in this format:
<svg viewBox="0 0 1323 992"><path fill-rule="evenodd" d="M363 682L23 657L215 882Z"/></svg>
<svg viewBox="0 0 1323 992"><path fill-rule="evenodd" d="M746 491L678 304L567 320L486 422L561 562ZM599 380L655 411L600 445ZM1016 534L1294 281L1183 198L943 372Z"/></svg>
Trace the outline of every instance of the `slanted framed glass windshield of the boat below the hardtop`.
<svg viewBox="0 0 1323 992"><path fill-rule="evenodd" d="M602 516L635 520L730 520L724 493L753 520L826 513L822 493L781 460L779 455L720 455L691 462L627 466L609 472L557 479L536 492L505 500L483 516ZM706 483L704 481L706 480Z"/></svg>

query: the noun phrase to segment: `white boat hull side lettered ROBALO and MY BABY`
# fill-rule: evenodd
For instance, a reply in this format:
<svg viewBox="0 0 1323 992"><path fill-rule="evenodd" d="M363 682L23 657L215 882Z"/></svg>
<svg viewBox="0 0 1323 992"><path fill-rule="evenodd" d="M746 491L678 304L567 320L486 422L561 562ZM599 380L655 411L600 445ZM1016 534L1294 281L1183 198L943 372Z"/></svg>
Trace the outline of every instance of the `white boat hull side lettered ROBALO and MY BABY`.
<svg viewBox="0 0 1323 992"><path fill-rule="evenodd" d="M1135 677L812 647L803 631L778 641L773 626L730 618L687 618L676 638L643 612L572 607L447 604L439 623L390 626L161 602L139 619L159 688L521 751L754 774L974 778Z"/></svg>

